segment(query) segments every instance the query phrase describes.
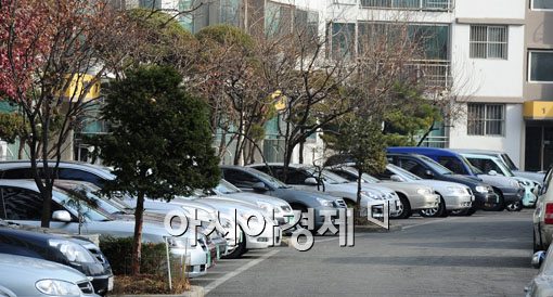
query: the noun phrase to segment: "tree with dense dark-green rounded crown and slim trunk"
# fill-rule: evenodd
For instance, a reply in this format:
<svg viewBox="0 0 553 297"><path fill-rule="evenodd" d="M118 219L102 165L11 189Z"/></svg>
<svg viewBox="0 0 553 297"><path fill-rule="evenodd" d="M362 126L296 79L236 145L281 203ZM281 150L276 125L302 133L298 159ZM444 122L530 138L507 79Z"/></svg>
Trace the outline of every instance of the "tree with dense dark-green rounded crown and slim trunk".
<svg viewBox="0 0 553 297"><path fill-rule="evenodd" d="M104 189L137 197L132 273L140 272L144 198L170 201L219 180L205 103L180 87L167 66L141 66L114 81L102 108L113 124L98 139L100 156L116 179Z"/></svg>

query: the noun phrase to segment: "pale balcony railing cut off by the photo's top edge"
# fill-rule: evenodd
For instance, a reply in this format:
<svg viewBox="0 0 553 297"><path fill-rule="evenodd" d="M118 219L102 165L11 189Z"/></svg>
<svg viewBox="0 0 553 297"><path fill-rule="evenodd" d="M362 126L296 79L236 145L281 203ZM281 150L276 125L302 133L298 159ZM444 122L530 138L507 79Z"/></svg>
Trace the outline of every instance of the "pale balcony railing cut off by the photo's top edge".
<svg viewBox="0 0 553 297"><path fill-rule="evenodd" d="M452 11L453 0L360 0L363 9Z"/></svg>

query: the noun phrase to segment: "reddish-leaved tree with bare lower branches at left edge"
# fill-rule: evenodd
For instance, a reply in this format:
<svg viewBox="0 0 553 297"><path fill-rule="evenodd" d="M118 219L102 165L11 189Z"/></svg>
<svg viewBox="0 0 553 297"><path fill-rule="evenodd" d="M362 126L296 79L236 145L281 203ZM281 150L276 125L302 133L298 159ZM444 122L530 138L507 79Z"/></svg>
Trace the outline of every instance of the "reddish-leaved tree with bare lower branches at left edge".
<svg viewBox="0 0 553 297"><path fill-rule="evenodd" d="M24 141L43 198L41 225L49 227L53 172L72 146L77 119L100 98L102 56L130 30L107 1L0 1L0 96L28 125Z"/></svg>

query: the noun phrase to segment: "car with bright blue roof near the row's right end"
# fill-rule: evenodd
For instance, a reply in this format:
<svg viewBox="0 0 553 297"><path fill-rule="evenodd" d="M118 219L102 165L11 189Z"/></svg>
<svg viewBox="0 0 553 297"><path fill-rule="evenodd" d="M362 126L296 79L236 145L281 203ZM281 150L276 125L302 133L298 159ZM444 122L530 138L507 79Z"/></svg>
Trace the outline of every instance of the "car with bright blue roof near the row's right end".
<svg viewBox="0 0 553 297"><path fill-rule="evenodd" d="M489 176L472 166L459 153L435 147L388 147L389 153L421 154L441 164L449 170L463 176L473 177L491 185L499 196L499 203L488 210L501 211L506 205L520 202L524 196L524 188L513 178L501 176Z"/></svg>

